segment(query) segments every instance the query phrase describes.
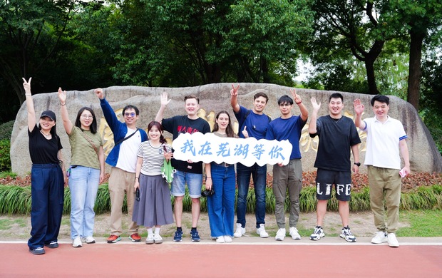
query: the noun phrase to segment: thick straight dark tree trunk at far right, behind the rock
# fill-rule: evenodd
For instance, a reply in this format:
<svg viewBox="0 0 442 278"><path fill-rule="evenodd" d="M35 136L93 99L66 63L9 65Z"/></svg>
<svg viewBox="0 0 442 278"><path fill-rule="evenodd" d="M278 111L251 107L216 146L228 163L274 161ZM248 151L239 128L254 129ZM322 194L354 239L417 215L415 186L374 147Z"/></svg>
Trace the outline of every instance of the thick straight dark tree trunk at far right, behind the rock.
<svg viewBox="0 0 442 278"><path fill-rule="evenodd" d="M419 110L419 90L422 76L421 56L425 31L418 31L413 24L410 30L410 66L408 68L408 93L407 101Z"/></svg>

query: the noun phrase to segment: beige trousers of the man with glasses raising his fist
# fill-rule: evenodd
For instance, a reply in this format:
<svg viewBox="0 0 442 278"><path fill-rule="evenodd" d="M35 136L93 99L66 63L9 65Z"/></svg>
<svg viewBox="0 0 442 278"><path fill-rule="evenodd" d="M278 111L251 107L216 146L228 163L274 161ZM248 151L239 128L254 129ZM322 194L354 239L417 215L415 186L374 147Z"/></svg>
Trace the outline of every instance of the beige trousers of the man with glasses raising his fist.
<svg viewBox="0 0 442 278"><path fill-rule="evenodd" d="M109 195L111 195L111 235L121 235L121 218L123 217L124 195L127 195L128 216L130 225L128 227L129 235L138 232L138 225L132 221L133 202L135 200L135 173L129 173L119 168L113 167L109 177Z"/></svg>

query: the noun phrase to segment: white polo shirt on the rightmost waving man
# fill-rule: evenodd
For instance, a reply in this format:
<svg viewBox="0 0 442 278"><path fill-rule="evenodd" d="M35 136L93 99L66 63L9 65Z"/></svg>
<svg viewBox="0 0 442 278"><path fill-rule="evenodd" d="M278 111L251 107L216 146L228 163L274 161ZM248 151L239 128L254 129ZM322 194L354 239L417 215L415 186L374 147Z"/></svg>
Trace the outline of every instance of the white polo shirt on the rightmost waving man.
<svg viewBox="0 0 442 278"><path fill-rule="evenodd" d="M407 138L404 126L399 120L387 115L387 120L381 123L374 118L366 118L365 131L366 154L365 165L380 168L401 169L399 141Z"/></svg>

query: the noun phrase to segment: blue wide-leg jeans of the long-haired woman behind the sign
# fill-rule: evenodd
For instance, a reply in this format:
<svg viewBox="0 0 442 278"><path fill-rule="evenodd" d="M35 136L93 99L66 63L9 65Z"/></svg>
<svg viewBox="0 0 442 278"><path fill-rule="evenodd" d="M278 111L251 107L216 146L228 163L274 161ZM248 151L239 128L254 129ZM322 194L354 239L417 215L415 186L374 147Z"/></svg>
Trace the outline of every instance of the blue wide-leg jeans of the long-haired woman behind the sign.
<svg viewBox="0 0 442 278"><path fill-rule="evenodd" d="M235 220L235 166L225 167L210 163L212 188L215 194L207 197L210 236L233 237L233 222Z"/></svg>

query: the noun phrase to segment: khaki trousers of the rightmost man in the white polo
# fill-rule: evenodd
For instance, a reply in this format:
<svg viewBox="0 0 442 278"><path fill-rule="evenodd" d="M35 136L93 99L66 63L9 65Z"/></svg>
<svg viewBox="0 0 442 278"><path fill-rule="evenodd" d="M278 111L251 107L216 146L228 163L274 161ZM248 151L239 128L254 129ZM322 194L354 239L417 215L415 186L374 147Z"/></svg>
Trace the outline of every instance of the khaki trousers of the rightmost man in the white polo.
<svg viewBox="0 0 442 278"><path fill-rule="evenodd" d="M369 165L368 173L374 225L379 231L396 232L399 226L399 204L401 202L399 170ZM384 207L386 207L386 223Z"/></svg>

